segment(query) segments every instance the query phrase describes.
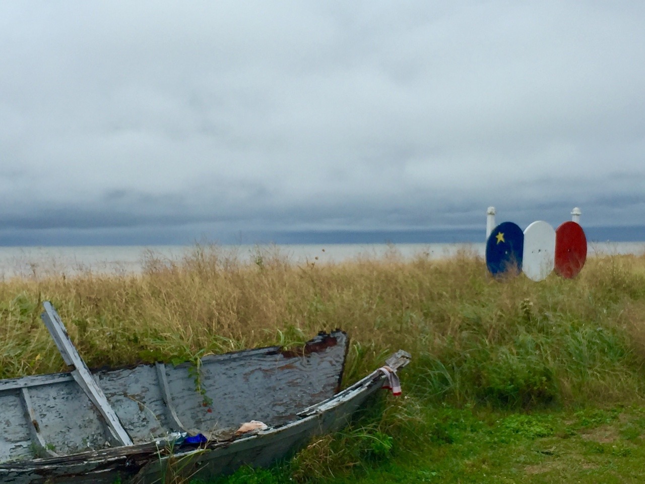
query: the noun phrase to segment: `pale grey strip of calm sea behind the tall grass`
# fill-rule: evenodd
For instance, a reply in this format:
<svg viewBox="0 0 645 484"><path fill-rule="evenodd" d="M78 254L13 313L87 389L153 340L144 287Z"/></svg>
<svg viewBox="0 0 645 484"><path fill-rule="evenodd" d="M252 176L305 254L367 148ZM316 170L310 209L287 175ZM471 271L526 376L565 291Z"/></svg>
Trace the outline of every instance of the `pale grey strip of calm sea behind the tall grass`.
<svg viewBox="0 0 645 484"><path fill-rule="evenodd" d="M0 247L0 277L46 276L78 272L141 272L150 257L181 261L195 246L88 246L88 247ZM334 263L357 258L381 258L399 254L404 258L422 255L441 259L468 250L484 256L484 244L329 244L329 245L237 245L219 246L223 254L253 261L259 252L275 251L295 264L306 261ZM589 256L645 254L645 242L590 243Z"/></svg>

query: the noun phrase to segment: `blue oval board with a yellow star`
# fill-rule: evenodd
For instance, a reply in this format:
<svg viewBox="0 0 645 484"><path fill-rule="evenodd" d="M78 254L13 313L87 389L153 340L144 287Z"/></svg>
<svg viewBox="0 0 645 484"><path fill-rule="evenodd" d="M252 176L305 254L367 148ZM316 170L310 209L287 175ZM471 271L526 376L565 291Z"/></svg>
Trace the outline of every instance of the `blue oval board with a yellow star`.
<svg viewBox="0 0 645 484"><path fill-rule="evenodd" d="M522 270L524 232L513 222L493 228L486 241L486 267L493 276L517 276Z"/></svg>

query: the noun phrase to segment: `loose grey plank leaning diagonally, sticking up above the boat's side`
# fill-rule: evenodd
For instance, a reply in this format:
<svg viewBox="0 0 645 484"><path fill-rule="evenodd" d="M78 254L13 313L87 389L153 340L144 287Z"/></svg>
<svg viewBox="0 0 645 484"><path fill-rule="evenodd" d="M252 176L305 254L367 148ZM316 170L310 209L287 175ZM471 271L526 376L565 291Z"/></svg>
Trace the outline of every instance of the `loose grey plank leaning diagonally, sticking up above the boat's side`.
<svg viewBox="0 0 645 484"><path fill-rule="evenodd" d="M123 425L119 421L117 414L114 412L114 409L108 403L108 399L105 398L103 390L97 385L92 378L90 369L87 367L79 353L77 352L70 336L67 334L67 331L61 321L60 316L58 316L54 307L49 301L43 303L45 307L45 312L41 315L45 326L49 330L54 342L58 347L61 356L67 365L73 368L72 376L79 384L85 394L90 398L92 403L98 408L99 412L105 419L105 423L110 430L110 434L119 442L121 445L132 445L132 439L128 435L128 432L125 431Z"/></svg>

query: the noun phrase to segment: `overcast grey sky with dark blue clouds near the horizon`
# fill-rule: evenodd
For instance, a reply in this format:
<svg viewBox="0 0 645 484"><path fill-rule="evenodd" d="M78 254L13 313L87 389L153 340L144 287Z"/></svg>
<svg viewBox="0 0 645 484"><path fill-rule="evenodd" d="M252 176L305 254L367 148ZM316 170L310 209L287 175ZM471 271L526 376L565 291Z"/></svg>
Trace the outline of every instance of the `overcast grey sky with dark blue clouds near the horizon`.
<svg viewBox="0 0 645 484"><path fill-rule="evenodd" d="M1 2L0 244L643 226L644 26L640 0Z"/></svg>

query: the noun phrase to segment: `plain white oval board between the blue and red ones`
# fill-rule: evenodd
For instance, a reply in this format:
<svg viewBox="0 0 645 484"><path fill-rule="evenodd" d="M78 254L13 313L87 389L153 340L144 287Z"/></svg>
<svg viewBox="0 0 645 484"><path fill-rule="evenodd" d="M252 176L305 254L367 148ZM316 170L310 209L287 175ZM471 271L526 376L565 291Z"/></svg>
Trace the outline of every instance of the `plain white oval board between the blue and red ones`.
<svg viewBox="0 0 645 484"><path fill-rule="evenodd" d="M522 272L531 281L542 281L555 265L555 230L539 220L524 230Z"/></svg>

